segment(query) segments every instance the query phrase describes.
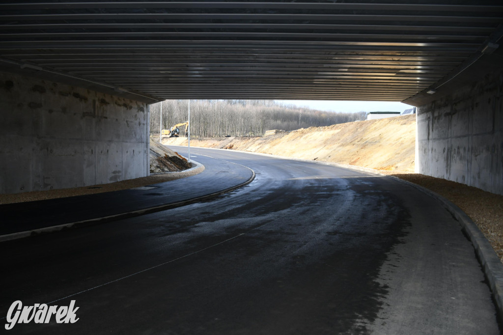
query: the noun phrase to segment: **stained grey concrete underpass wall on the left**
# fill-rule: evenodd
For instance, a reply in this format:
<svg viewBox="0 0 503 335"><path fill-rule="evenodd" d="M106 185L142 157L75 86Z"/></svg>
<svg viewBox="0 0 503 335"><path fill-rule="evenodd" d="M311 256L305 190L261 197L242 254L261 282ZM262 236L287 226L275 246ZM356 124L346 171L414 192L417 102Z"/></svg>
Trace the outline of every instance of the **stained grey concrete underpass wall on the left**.
<svg viewBox="0 0 503 335"><path fill-rule="evenodd" d="M0 193L148 175L147 105L0 72Z"/></svg>

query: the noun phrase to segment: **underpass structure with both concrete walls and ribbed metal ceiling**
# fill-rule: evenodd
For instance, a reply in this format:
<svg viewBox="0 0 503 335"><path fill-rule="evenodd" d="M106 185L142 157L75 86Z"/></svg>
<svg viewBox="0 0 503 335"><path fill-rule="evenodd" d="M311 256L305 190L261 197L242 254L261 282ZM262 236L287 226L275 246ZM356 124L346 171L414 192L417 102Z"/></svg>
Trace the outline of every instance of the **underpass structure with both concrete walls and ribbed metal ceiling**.
<svg viewBox="0 0 503 335"><path fill-rule="evenodd" d="M147 104L260 98L411 104L417 172L503 193L493 2L0 8L0 192L144 176Z"/></svg>

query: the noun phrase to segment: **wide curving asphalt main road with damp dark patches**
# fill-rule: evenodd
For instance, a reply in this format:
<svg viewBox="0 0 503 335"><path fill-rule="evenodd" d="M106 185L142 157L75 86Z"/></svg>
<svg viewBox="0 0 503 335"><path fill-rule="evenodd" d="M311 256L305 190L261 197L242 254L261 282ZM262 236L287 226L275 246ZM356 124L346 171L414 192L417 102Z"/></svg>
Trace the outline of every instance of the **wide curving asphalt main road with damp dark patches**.
<svg viewBox="0 0 503 335"><path fill-rule="evenodd" d="M471 243L429 196L329 165L191 153L257 177L211 201L0 243L4 316L15 300L79 307L73 324L8 333L499 333Z"/></svg>

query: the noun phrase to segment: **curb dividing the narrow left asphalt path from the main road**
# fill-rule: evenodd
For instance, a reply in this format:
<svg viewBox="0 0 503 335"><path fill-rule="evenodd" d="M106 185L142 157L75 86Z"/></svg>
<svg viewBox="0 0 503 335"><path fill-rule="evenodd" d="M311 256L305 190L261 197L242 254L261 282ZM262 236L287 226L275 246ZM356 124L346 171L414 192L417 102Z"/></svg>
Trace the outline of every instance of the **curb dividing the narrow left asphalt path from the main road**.
<svg viewBox="0 0 503 335"><path fill-rule="evenodd" d="M200 163L198 163L198 164L200 164ZM202 165L202 164L200 164L200 165L203 167L203 170L204 170L204 165ZM196 168L200 169L200 167L196 167ZM192 168L192 169L195 169L195 168ZM54 232L54 231L66 230L66 229L77 228L77 227L86 227L86 226L91 226L91 225L95 225L95 224L99 224L99 223L106 223L106 222L111 222L111 221L116 221L116 220L121 220L121 219L127 219L127 218L136 217L136 216L140 216L140 215L144 215L144 214L160 212L160 211L171 209L171 208L176 208L176 207L181 207L181 206L193 204L193 203L200 202L203 200L216 198L222 194L232 192L240 187L243 187L243 186L248 185L249 183L253 182L255 179L255 171L251 170L249 167L246 167L246 169L251 171L251 177L247 181L245 181L244 183L241 183L239 185L230 187L228 189L219 191L219 192L214 192L211 194L207 194L205 196L201 196L201 197L197 197L197 198L193 198L193 199L188 199L188 200L184 200L184 201L180 201L180 202L176 202L176 203L172 203L172 204L150 207L150 208L140 209L140 210L136 210L136 211L121 213L121 214L114 214L114 215L90 219L90 220L65 223L65 224L60 224L57 226L44 227L44 228L39 228L39 229L20 231L20 232L16 232L16 233L12 233L12 234L0 235L0 242L5 242L5 241L13 240L13 239L24 238L24 237L37 236L40 234ZM189 170L191 170L191 169L189 169Z"/></svg>

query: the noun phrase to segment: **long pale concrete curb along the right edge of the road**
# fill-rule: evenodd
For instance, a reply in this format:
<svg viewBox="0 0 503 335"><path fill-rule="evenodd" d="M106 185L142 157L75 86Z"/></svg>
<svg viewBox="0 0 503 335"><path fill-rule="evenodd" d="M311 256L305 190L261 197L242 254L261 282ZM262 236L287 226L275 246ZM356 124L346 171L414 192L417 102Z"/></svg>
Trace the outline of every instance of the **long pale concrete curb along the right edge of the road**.
<svg viewBox="0 0 503 335"><path fill-rule="evenodd" d="M229 149L220 149L220 148L208 148L208 149L229 150ZM497 313L499 314L499 317L503 318L503 264L501 264L498 256L496 255L496 252L492 248L492 245L489 243L487 238L485 238L484 234L480 231L480 229L477 227L477 225L470 219L470 217L468 215L466 215L465 212L463 212L458 206L456 206L451 201L447 200L446 198L442 197L441 195L439 195L433 191L430 191L420 185L416 185L416 184L407 182L403 179L400 179L400 178L397 178L394 176L389 176L389 175L379 173L378 171L376 171L374 169L369 169L367 167L348 165L348 164L340 164L340 163L334 163L334 162L326 162L326 161L317 161L317 160L310 160L310 159L292 158L292 157L279 156L279 155L273 155L273 154L261 153L261 152L249 152L249 151L232 150L232 149L230 149L230 150L236 151L236 152L258 154L258 155L262 155L262 156L286 158L286 159L297 160L297 161L308 161L308 162L314 162L314 163L323 164L323 165L333 165L333 166L337 166L337 167L343 167L345 169L367 172L367 173L371 173L371 174L374 174L377 176L392 178L396 181L399 181L401 183L404 183L404 184L407 184L411 187L414 187L417 190L420 190L423 193L437 199L444 206L444 208L447 209L447 211L449 213L451 213L456 218L456 220L459 221L463 231L466 233L469 240L472 242L473 248L475 249L475 254L478 258L480 265L482 266L482 271L484 272L485 278L487 278L487 281L489 283L489 288L491 289L491 292L492 292L492 295L493 295L493 298L494 298L494 301L496 304Z"/></svg>

